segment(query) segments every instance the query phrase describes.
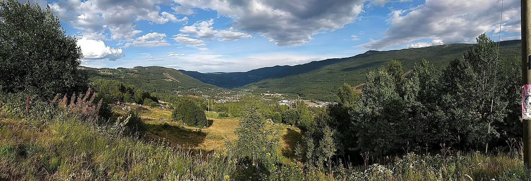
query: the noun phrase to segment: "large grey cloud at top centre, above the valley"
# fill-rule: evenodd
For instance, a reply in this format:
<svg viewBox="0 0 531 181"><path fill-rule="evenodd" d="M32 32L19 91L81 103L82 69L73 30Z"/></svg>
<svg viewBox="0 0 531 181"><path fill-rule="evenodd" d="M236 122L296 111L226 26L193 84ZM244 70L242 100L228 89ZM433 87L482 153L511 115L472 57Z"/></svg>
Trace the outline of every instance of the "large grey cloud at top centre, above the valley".
<svg viewBox="0 0 531 181"><path fill-rule="evenodd" d="M233 27L259 33L279 46L303 45L320 31L336 30L352 23L366 0L175 0L181 5L216 10L233 19Z"/></svg>

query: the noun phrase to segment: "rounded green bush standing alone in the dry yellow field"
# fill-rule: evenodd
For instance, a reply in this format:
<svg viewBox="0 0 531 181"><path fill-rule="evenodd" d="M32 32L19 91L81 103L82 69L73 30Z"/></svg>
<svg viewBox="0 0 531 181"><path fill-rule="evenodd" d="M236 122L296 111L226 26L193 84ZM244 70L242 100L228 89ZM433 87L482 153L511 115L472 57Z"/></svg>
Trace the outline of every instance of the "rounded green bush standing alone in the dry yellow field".
<svg viewBox="0 0 531 181"><path fill-rule="evenodd" d="M203 109L189 99L177 103L176 108L172 112L172 119L188 126L199 128L208 124L207 116L204 114Z"/></svg>

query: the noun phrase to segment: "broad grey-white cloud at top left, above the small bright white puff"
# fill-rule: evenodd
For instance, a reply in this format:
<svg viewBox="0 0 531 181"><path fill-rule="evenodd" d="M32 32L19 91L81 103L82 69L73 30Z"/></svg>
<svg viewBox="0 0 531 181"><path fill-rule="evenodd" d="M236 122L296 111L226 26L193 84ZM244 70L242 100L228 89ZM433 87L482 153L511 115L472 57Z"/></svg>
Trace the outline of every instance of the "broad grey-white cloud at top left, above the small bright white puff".
<svg viewBox="0 0 531 181"><path fill-rule="evenodd" d="M158 24L188 21L187 17L179 19L172 13L160 12L159 4L171 2L171 0L67 0L55 1L50 4L50 8L62 22L81 30L83 36L96 39L95 36L89 35L102 35L102 32L108 30L110 38L126 39L142 32L136 30L138 21L145 20Z"/></svg>

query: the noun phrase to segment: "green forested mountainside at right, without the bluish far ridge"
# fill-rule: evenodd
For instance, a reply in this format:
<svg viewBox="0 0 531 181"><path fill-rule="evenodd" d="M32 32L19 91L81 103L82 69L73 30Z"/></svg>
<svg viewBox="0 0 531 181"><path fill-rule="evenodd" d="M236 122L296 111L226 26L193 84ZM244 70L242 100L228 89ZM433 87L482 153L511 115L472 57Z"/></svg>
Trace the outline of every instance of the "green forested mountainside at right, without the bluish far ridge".
<svg viewBox="0 0 531 181"><path fill-rule="evenodd" d="M516 59L520 55L519 40L502 41L501 54L504 60ZM293 66L286 72L298 73L299 69L307 70L300 74L284 74L283 77L271 77L262 81L250 83L244 88L271 90L273 92L298 93L306 98L335 100L333 92L344 82L357 85L365 80L369 71L386 65L391 59L396 59L404 64L408 70L419 63L422 58L438 68L447 65L450 59L460 58L472 44L451 44L431 46L425 48L409 48L390 51L367 51L354 57L331 59L331 64L321 63L315 67L309 63ZM323 62L323 61L320 61ZM313 67L313 69L312 69Z"/></svg>

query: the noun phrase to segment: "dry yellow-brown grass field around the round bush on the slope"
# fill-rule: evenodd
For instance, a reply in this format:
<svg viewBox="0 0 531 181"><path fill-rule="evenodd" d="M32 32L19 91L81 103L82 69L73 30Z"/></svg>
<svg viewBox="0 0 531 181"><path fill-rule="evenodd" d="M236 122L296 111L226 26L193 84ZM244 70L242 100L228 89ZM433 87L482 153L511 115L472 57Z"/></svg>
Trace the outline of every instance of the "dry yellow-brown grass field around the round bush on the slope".
<svg viewBox="0 0 531 181"><path fill-rule="evenodd" d="M115 105L113 111L118 115L124 115L126 114L126 111L122 110L124 106L135 108L130 104ZM147 123L148 133L146 137L148 140L165 139L169 143L185 149L212 151L225 150L225 142L236 139L234 130L238 127L237 118L218 119L218 113L205 111L209 123L212 125L199 129L173 122L171 119L172 111L169 109L144 108L147 110L140 111L140 117ZM280 132L282 155L287 158L294 158L295 145L298 140L301 140L299 128L283 124L268 124L268 128Z"/></svg>

